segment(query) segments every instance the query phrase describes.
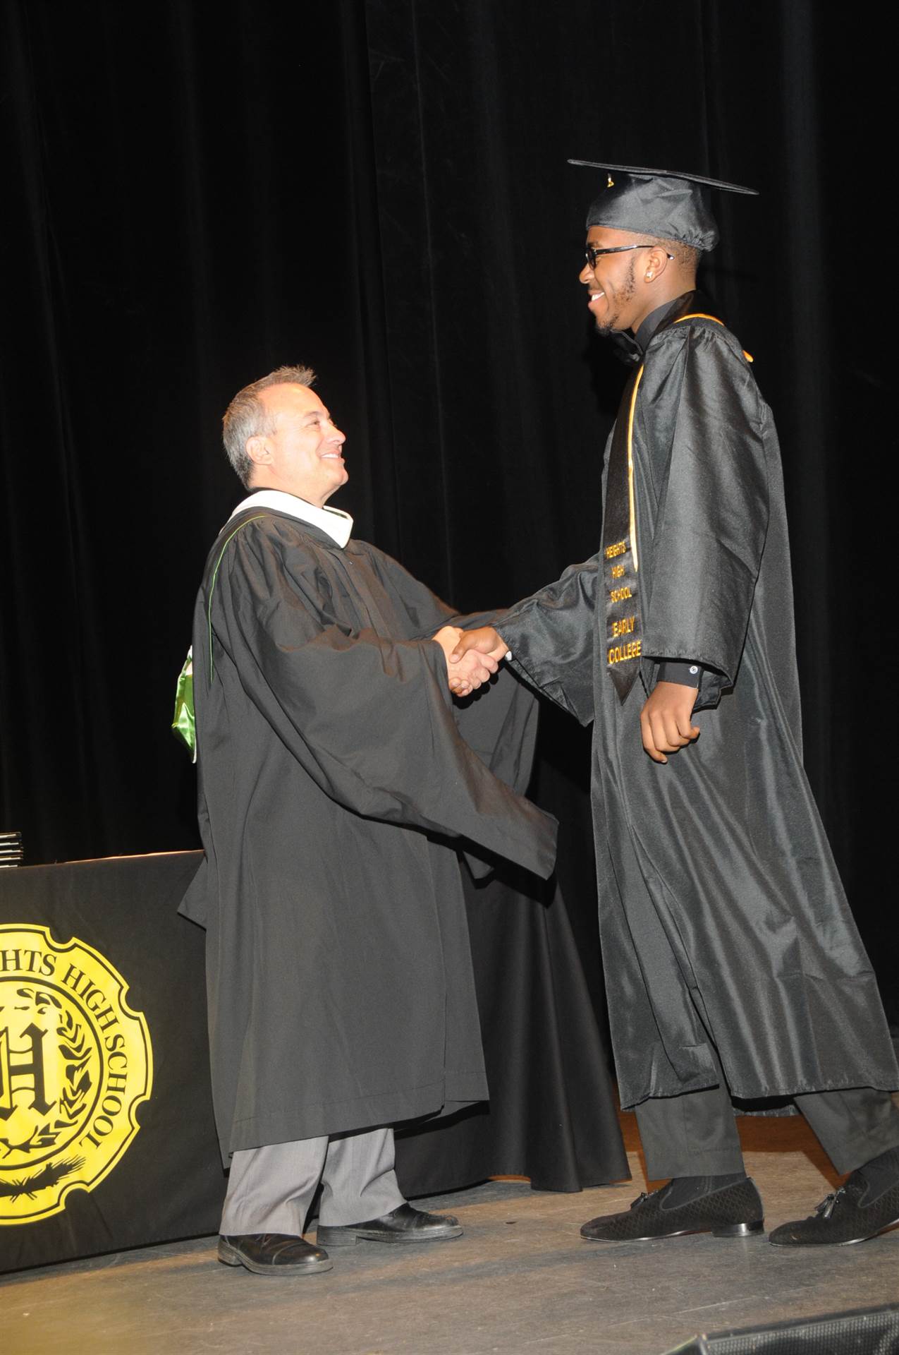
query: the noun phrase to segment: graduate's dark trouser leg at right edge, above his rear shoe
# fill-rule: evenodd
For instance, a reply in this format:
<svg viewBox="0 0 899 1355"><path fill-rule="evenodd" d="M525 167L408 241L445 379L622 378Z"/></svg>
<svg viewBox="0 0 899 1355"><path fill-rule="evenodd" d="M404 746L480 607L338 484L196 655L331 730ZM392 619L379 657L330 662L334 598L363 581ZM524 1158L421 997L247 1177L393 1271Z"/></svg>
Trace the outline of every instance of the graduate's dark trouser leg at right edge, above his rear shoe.
<svg viewBox="0 0 899 1355"><path fill-rule="evenodd" d="M793 1098L841 1173L899 1148L899 1111L890 1092L849 1087L838 1092L806 1092Z"/></svg>

